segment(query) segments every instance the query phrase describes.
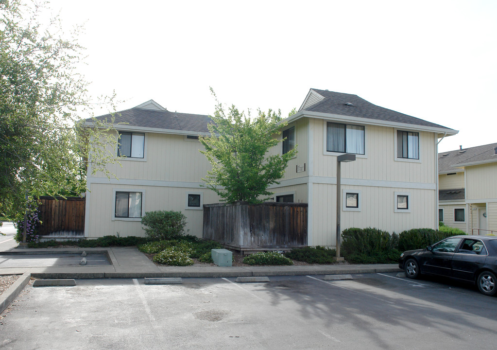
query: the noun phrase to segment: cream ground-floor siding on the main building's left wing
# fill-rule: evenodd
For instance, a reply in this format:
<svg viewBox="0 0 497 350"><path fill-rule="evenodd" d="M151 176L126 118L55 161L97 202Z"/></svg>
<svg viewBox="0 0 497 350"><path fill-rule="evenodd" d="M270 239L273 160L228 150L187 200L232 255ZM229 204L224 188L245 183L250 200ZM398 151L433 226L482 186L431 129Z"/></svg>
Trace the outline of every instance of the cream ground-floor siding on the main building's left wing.
<svg viewBox="0 0 497 350"><path fill-rule="evenodd" d="M181 211L187 218L186 229L189 234L202 237L203 210L185 209L188 192L202 192L203 203L218 203L217 194L205 188L159 187L119 184L92 183L91 193L87 195L89 201L89 227L85 228L90 238L116 235L121 237L144 236L140 221L112 220L113 189L136 190L143 192L142 212L154 210Z"/></svg>

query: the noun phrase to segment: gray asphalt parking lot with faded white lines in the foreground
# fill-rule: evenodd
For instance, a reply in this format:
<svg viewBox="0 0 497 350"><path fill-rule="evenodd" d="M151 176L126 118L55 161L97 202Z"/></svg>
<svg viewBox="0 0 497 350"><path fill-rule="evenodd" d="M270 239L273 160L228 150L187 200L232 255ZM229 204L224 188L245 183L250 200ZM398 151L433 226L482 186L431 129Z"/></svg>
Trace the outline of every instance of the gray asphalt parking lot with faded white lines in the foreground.
<svg viewBox="0 0 497 350"><path fill-rule="evenodd" d="M277 276L79 279L26 286L0 325L0 349L484 349L497 298L395 273L352 280Z"/></svg>

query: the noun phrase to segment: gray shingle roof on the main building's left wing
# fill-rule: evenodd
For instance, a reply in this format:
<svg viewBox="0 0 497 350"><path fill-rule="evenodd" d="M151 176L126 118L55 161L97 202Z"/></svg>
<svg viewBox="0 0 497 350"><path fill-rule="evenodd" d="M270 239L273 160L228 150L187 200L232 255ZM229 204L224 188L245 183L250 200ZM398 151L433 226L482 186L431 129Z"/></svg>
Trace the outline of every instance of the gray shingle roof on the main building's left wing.
<svg viewBox="0 0 497 350"><path fill-rule="evenodd" d="M128 123L129 126L161 128L192 132L209 132L207 124L211 122L208 115L169 112L167 110L150 110L131 108L114 114L116 123ZM110 120L111 115L101 115L99 120ZM91 122L91 119L86 119Z"/></svg>

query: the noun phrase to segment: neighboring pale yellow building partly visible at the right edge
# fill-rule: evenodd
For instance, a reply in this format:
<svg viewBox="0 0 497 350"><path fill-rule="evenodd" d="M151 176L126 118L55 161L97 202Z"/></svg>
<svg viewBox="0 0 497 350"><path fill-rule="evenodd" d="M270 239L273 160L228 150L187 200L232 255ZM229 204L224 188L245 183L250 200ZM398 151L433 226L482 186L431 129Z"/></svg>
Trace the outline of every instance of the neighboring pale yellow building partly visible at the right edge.
<svg viewBox="0 0 497 350"><path fill-rule="evenodd" d="M497 234L497 143L438 154L439 220Z"/></svg>

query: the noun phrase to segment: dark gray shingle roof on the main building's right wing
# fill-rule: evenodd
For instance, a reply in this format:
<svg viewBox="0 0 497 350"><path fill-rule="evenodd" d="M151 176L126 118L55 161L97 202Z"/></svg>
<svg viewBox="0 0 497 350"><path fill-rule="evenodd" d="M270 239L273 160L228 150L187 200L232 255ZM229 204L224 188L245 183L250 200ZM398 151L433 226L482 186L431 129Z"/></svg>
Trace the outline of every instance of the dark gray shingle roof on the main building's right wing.
<svg viewBox="0 0 497 350"><path fill-rule="evenodd" d="M365 99L349 93L333 92L328 90L311 89L325 98L321 101L307 106L304 110L311 112L332 113L351 117L385 120L396 123L422 125L435 128L451 130L442 125L431 123L426 120L399 113L391 109L383 108L366 101ZM352 106L346 105L352 103Z"/></svg>

